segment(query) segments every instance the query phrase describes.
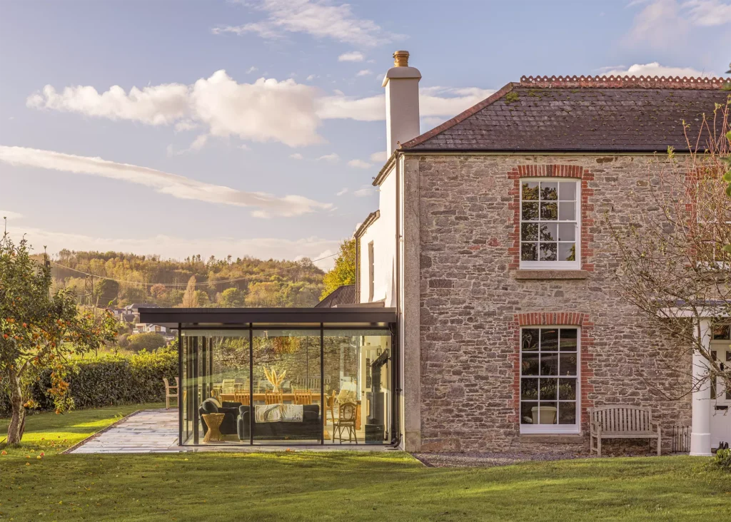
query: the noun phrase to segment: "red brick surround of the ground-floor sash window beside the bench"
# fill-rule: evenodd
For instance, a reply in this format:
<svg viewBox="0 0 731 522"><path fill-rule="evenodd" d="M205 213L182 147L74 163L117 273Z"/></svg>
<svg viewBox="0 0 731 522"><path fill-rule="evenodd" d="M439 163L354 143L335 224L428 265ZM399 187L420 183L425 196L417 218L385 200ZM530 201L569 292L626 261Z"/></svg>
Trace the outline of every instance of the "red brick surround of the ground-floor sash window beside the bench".
<svg viewBox="0 0 731 522"><path fill-rule="evenodd" d="M577 394L576 399L578 401L578 423L566 426L566 429L562 429L561 426L550 425L546 429L542 429L540 424L536 426L530 426L529 428L521 427L521 334L523 329L538 329L540 327L556 327L561 329L575 327L578 329L578 372L577 372ZM514 346L515 351L513 353L513 368L514 368L514 381L513 381L513 399L512 406L515 412L515 417L512 419L515 422L515 428L518 431L525 431L526 433L546 433L546 434L577 434L580 431L588 430L588 411L587 408L591 407L594 402L589 397L594 392L594 386L591 385L591 379L594 377L594 370L592 369L592 360L594 353L594 323L591 322L591 318L587 313L584 312L526 312L516 314L513 321L513 332L514 332ZM525 412L523 412L525 413Z"/></svg>

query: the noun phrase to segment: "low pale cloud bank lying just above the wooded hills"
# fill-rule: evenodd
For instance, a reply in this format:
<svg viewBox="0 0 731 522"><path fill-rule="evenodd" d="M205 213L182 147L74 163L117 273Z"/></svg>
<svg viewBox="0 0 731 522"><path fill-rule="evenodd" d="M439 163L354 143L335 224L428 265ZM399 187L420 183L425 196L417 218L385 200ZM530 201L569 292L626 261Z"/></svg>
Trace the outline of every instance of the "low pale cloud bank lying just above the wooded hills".
<svg viewBox="0 0 731 522"><path fill-rule="evenodd" d="M60 228L60 227L59 227ZM157 254L164 259L184 259L191 255L191 247L203 258L216 256L234 258L252 256L260 259L289 259L298 261L303 257L322 258L338 251L339 239L306 237L284 239L281 237L238 238L238 237L175 237L164 234L154 237L91 237L84 234L69 233L67 230L45 230L29 228L15 223L8 224L8 230L15 237L26 234L34 251L48 245L49 253L68 248L69 250L114 250L134 252L140 255ZM322 269L330 269L335 258L327 258L316 264Z"/></svg>

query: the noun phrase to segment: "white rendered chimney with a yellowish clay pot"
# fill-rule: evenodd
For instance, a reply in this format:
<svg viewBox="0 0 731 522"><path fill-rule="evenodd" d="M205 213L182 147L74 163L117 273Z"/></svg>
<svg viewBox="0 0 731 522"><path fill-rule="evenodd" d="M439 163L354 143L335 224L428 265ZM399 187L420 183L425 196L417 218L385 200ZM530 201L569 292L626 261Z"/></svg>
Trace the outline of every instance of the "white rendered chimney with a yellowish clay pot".
<svg viewBox="0 0 731 522"><path fill-rule="evenodd" d="M409 67L409 51L393 53L393 67L383 79L386 88L386 153L406 143L419 131L419 80L421 73Z"/></svg>

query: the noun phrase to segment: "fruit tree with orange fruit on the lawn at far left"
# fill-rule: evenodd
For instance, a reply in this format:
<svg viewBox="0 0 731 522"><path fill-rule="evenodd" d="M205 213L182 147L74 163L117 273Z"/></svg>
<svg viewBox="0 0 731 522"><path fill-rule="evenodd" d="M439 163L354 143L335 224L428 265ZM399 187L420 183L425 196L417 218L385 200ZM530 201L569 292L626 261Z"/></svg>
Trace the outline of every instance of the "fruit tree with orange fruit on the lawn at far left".
<svg viewBox="0 0 731 522"><path fill-rule="evenodd" d="M7 232L0 240L0 377L7 385L12 417L7 444L18 445L25 430L29 385L42 372L51 372L50 394L56 412L73 407L64 370L65 359L74 353L98 350L116 336L116 321L110 313L94 318L77 312L74 294L52 291L48 262L31 258L29 245L18 245Z"/></svg>

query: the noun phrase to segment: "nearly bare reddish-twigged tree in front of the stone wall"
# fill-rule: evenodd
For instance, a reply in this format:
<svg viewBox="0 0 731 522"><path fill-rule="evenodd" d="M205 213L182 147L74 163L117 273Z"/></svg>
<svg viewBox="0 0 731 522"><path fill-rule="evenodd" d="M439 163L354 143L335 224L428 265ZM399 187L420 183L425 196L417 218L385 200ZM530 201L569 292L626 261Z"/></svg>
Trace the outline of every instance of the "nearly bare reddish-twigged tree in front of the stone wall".
<svg viewBox="0 0 731 522"><path fill-rule="evenodd" d="M731 201L726 194L731 151L729 104L703 120L693 152L651 166L645 188L628 194L635 214L607 221L618 247L617 280L648 327L664 333L681 395L720 379L731 389L731 367L701 337L701 321L731 317ZM705 137L702 139L701 137ZM699 144L692 147L692 143ZM639 185L640 183L638 183ZM702 356L705 377L692 377L689 355ZM691 383L690 386L683 383Z"/></svg>

